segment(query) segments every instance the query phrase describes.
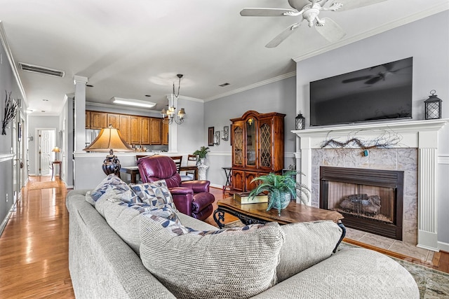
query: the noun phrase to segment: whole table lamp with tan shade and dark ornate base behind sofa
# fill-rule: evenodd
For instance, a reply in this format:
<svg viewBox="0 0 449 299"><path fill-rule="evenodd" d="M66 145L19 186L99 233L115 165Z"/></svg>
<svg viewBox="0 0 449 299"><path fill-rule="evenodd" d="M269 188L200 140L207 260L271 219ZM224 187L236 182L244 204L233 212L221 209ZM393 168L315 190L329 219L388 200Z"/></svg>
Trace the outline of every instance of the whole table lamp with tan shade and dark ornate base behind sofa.
<svg viewBox="0 0 449 299"><path fill-rule="evenodd" d="M120 160L114 155L114 151L130 152L134 151L126 141L121 137L120 131L109 125L100 131L98 137L92 141L83 151L92 151L99 153L109 152L103 161L102 169L106 175L115 174L119 176Z"/></svg>

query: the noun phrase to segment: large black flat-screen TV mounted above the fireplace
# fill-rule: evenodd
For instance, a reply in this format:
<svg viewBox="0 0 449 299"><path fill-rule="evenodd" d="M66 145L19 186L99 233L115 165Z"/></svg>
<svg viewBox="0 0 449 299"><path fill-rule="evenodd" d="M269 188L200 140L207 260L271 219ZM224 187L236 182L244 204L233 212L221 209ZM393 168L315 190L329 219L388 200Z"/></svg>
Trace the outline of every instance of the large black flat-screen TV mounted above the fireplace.
<svg viewBox="0 0 449 299"><path fill-rule="evenodd" d="M310 83L310 125L412 118L413 57Z"/></svg>

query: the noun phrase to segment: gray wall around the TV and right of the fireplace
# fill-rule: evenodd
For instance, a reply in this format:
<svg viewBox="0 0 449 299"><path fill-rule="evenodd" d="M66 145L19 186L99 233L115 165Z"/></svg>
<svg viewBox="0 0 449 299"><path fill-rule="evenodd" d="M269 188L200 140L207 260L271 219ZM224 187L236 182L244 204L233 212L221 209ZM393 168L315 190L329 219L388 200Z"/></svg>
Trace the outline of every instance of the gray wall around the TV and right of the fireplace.
<svg viewBox="0 0 449 299"><path fill-rule="evenodd" d="M413 120L424 119L424 100L430 90L445 102L449 118L449 11L438 13L389 32L297 62L297 107L309 124L309 82L384 62L413 57ZM449 249L449 125L439 133L438 241Z"/></svg>

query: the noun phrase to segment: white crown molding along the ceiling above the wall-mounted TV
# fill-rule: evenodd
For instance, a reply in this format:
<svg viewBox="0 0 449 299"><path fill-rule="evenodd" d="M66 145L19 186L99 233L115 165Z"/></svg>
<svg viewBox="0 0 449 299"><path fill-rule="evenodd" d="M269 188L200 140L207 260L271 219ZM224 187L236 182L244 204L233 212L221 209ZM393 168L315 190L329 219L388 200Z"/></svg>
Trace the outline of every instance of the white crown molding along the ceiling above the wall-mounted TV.
<svg viewBox="0 0 449 299"><path fill-rule="evenodd" d="M427 18L431 15L435 15L436 13L441 13L443 11L448 11L449 10L449 2L446 4L438 4L436 6L431 6L429 8L427 8L424 11L420 11L419 13L415 13L413 15L409 15L406 18L402 18L402 19L398 19L398 20L394 20L393 22L389 22L381 27L377 27L375 29L372 30L368 30L367 32L363 32L363 34L358 34L356 36L352 36L349 39L344 39L342 41L338 41L336 43L332 43L330 45L328 45L327 47L324 48L320 48L319 50L314 50L311 51L309 53L304 53L300 56L297 57L293 57L292 59L295 62L300 62L302 60L306 60L310 57L314 57L316 55L320 55L323 53L326 53L330 50L335 50L337 48L343 47L343 46L347 46L350 43L355 43L356 41L361 41L362 39L367 39L370 36L374 36L376 34L380 34L382 32L386 32L388 30L394 29L396 27L400 27L402 25L406 25L408 23L411 22L415 22L417 20L420 20L422 18Z"/></svg>

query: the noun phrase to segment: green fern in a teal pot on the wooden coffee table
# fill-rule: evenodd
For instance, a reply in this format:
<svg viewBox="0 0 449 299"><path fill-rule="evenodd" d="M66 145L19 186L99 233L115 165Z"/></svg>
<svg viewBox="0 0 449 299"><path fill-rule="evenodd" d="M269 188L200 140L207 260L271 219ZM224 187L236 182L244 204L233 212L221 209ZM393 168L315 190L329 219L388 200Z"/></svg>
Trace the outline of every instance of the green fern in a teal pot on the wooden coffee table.
<svg viewBox="0 0 449 299"><path fill-rule="evenodd" d="M294 170L284 174L270 172L269 174L255 177L251 180L251 183L257 181L260 183L255 189L251 190L250 200L262 192L267 192L267 211L272 208L278 209L279 216L281 216L281 210L285 209L290 203L290 196L293 198L299 197L302 203L307 204L310 198L310 189L304 183L297 183L296 174L302 174L302 172Z"/></svg>

